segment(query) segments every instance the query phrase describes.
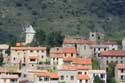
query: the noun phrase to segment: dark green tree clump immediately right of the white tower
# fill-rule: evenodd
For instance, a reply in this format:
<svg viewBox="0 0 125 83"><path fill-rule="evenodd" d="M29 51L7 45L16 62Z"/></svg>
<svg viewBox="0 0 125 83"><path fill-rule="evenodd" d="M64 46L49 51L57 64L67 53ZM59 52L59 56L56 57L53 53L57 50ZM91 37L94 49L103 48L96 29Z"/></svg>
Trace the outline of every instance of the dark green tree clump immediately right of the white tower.
<svg viewBox="0 0 125 83"><path fill-rule="evenodd" d="M42 45L48 47L56 47L61 46L63 43L64 35L59 31L52 31L49 33L45 33L42 29L37 30L35 41L33 42L35 45Z"/></svg>

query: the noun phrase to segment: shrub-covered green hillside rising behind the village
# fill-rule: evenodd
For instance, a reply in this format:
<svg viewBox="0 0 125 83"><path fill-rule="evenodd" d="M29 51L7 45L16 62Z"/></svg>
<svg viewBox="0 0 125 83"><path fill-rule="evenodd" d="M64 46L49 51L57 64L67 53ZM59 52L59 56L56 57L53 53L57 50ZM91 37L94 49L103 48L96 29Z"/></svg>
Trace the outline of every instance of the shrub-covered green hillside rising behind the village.
<svg viewBox="0 0 125 83"><path fill-rule="evenodd" d="M125 35L125 0L0 0L2 31L20 39L27 24L46 33L86 36L101 31L107 38L121 40Z"/></svg>

